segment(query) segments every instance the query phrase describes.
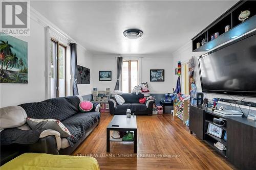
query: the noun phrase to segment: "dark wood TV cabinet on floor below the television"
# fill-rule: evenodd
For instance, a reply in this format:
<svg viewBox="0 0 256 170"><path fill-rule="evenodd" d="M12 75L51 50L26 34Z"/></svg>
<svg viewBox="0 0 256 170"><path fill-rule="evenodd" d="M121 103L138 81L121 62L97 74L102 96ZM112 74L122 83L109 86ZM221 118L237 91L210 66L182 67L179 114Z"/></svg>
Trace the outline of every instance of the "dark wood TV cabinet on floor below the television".
<svg viewBox="0 0 256 170"><path fill-rule="evenodd" d="M224 118L226 125L221 127L227 132L227 140L207 133L208 124L213 118ZM189 130L204 140L211 148L225 157L239 169L256 169L256 121L243 117L225 117L210 109L189 106ZM226 145L226 151L220 151L214 143L220 141Z"/></svg>

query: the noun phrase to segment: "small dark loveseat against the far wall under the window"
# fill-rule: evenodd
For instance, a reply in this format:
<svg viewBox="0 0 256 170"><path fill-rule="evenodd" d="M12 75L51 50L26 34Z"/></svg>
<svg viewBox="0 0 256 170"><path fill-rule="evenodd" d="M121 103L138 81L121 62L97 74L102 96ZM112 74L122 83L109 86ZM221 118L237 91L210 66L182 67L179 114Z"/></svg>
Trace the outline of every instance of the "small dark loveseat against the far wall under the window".
<svg viewBox="0 0 256 170"><path fill-rule="evenodd" d="M144 98L143 94L123 93L121 96L125 100L125 103L122 105L119 105L114 98L109 100L110 114L125 115L126 110L131 109L135 115L152 115L153 100L149 100L145 104L140 104L139 100Z"/></svg>

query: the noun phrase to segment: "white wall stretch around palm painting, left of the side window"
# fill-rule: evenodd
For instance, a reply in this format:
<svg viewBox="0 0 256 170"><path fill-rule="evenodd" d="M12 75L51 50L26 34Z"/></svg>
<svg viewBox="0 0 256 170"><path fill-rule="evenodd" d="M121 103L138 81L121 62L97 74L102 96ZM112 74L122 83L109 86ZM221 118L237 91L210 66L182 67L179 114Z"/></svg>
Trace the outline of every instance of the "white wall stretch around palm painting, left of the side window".
<svg viewBox="0 0 256 170"><path fill-rule="evenodd" d="M31 20L30 36L16 38L28 42L28 84L1 83L0 107L45 99L45 31Z"/></svg>

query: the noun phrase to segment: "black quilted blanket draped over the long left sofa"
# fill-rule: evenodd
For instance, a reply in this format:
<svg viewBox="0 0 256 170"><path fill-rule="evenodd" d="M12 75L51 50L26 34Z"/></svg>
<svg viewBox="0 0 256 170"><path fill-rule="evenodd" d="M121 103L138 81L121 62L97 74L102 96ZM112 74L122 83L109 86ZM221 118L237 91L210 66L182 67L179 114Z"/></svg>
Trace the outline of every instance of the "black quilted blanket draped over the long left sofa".
<svg viewBox="0 0 256 170"><path fill-rule="evenodd" d="M90 127L99 122L99 112L80 113L80 99L77 96L48 99L42 102L19 105L26 111L28 117L38 119L57 119L65 125L71 135L68 141L71 147L82 138ZM97 104L94 104L95 110Z"/></svg>

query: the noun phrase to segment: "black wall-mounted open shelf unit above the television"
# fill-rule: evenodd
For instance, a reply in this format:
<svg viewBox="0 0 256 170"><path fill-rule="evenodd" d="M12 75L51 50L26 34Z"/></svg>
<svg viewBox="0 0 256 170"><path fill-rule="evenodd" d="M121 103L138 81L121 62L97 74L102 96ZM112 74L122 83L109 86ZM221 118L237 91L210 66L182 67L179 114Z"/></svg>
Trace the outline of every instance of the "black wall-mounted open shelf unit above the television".
<svg viewBox="0 0 256 170"><path fill-rule="evenodd" d="M241 36L256 27L256 1L239 1L236 5L227 10L215 21L210 23L208 27L198 33L192 40L193 52L205 52L219 46L234 37ZM249 10L250 16L244 22L238 19L241 11ZM229 25L231 29L225 32L225 26ZM219 37L211 40L211 35L219 32ZM206 40L206 44L202 45L202 40ZM197 48L197 43L202 46Z"/></svg>

